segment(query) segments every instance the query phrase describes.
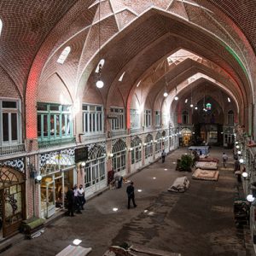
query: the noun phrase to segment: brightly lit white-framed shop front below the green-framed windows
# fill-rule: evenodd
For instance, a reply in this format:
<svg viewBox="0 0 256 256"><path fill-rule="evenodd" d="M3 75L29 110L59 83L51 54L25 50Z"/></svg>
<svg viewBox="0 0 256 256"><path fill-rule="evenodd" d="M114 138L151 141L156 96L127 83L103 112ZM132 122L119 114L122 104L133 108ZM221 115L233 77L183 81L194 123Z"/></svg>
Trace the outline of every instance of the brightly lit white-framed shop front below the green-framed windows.
<svg viewBox="0 0 256 256"><path fill-rule="evenodd" d="M40 212L42 218L49 218L65 207L67 189L76 183L74 149L41 154L40 172Z"/></svg>

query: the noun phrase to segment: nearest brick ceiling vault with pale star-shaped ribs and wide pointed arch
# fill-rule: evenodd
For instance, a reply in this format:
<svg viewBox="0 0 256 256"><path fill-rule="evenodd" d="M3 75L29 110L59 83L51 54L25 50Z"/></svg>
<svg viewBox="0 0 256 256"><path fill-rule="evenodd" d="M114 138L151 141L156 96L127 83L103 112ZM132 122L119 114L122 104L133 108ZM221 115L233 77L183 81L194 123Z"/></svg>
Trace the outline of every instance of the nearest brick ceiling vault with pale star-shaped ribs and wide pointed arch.
<svg viewBox="0 0 256 256"><path fill-rule="evenodd" d="M73 101L93 86L101 17L100 43L106 59L102 75L107 85L100 92L102 98L119 86L126 101L155 62L183 47L228 73L236 84L230 90L239 87L239 102L252 102L254 1L102 0L100 6L99 15L95 0L1 1L1 73L9 76L22 98L29 91L26 98L31 100L36 96L31 90L44 90L55 77L65 84ZM56 64L67 45L72 46L70 56L63 65ZM120 86L117 79L123 71L129 77Z"/></svg>

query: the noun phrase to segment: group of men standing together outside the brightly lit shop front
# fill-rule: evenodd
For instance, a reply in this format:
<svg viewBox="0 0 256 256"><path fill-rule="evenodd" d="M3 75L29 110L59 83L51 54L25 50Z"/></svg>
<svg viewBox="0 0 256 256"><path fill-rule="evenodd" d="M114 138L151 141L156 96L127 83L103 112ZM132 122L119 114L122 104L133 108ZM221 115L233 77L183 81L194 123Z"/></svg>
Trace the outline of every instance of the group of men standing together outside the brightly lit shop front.
<svg viewBox="0 0 256 256"><path fill-rule="evenodd" d="M68 188L67 194L67 216L74 216L75 213L82 213L81 210L84 210L85 197L83 185L80 184L79 188L77 185L74 185L73 188Z"/></svg>

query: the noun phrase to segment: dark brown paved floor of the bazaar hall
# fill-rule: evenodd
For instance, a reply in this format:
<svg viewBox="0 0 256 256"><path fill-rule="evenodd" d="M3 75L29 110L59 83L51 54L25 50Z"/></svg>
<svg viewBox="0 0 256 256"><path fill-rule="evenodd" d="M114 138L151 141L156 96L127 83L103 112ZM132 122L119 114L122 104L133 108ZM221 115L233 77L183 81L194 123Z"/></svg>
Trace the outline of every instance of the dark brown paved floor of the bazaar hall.
<svg viewBox="0 0 256 256"><path fill-rule="evenodd" d="M110 245L137 243L186 256L253 255L245 248L243 230L237 230L232 212L236 178L232 172L231 151L228 168L220 168L218 182L199 181L191 173L175 171L176 160L188 152L180 148L132 176L137 208L126 207L124 185L87 202L83 214L61 218L50 224L44 235L20 241L2 255L55 255L82 240L92 247L90 256L101 256ZM221 158L223 148L212 148L211 156ZM166 170L165 170L166 169ZM189 177L189 190L183 194L167 191L176 177ZM154 178L155 177L155 178ZM112 208L118 207L118 212ZM145 212L146 210L146 212Z"/></svg>

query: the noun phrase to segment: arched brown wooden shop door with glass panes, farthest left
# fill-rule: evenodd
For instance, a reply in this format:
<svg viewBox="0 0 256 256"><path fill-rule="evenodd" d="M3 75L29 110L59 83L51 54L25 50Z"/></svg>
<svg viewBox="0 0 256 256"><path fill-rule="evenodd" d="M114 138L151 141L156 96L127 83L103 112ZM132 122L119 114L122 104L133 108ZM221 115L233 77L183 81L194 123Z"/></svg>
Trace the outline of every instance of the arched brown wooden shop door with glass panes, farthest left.
<svg viewBox="0 0 256 256"><path fill-rule="evenodd" d="M0 238L18 231L24 219L23 174L9 166L0 167Z"/></svg>

